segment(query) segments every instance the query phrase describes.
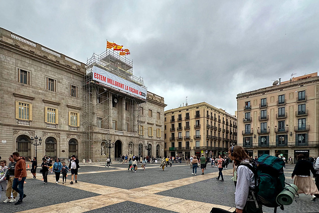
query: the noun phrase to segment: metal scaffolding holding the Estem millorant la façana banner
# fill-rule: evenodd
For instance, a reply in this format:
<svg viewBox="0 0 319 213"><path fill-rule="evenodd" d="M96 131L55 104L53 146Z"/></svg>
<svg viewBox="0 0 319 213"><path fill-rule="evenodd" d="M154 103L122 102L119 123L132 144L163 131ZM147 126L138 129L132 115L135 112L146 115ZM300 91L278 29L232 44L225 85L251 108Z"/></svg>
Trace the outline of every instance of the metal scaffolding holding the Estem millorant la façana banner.
<svg viewBox="0 0 319 213"><path fill-rule="evenodd" d="M110 111L110 104L112 104L110 101L112 98L111 94L121 94L121 92L94 81L92 77L93 66L133 82L145 89L147 88L144 86L143 78L133 75L133 61L120 56L117 52L107 49L100 55L94 53L87 60L87 71L83 79L83 126L85 128L85 138L82 140L81 149L86 160L91 159L95 161L102 154L99 135L103 134L104 138L110 138L107 135L110 134L110 129L112 128L110 120L110 113L112 113ZM127 94L121 95L126 96ZM142 143L141 141L143 140L143 135L139 134L139 127L143 121L145 122L145 118L142 117L144 113L140 112L142 107L145 109L144 103L146 100L134 97L130 97L129 100L131 105L129 132L133 133L128 133L128 135L132 137L131 141L135 146L136 140L138 140L137 144ZM95 143L95 141L99 141L100 143ZM138 149L138 147L134 147L133 149L136 148ZM135 151L135 153L137 152Z"/></svg>

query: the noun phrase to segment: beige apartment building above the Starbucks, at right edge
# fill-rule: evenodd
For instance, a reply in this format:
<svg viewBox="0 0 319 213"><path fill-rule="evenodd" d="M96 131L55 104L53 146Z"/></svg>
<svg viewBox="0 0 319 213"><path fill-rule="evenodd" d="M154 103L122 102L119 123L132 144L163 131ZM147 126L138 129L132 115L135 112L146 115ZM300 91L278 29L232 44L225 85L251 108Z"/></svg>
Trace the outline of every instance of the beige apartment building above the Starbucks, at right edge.
<svg viewBox="0 0 319 213"><path fill-rule="evenodd" d="M238 141L250 156L319 154L317 73L237 95Z"/></svg>

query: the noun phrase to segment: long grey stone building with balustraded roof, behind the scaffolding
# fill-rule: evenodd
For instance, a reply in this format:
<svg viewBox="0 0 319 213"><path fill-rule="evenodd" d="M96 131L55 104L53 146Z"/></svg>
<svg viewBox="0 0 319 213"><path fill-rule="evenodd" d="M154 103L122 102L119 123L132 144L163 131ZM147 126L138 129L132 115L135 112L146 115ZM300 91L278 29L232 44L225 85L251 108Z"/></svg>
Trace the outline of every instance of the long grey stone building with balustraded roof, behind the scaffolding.
<svg viewBox="0 0 319 213"><path fill-rule="evenodd" d="M163 109L166 106L163 98L148 92L146 100L135 99L135 107L132 105L135 112L124 116L128 114L125 113L127 104L134 99L129 100L125 94L99 85L107 91L103 96L111 97L108 101L111 106L113 96L118 97L118 105L121 105L120 109L107 105L101 116L104 120L100 122L97 119L101 117L97 115L101 115L101 106L97 102L101 97L94 91L93 100L92 90L88 95L87 68L85 63L0 28L0 156L18 151L26 158L32 158L37 152L38 158L49 155L64 159L75 154L79 159L97 161L105 159L109 152L112 158L128 154L130 142L132 154L139 154L139 144L143 144L140 151L145 155L148 151L145 145L149 142L150 154L156 156L155 147L160 146L162 155ZM90 84L96 82L92 80ZM92 106L90 110L88 103ZM145 110L160 112L159 117L146 114L143 118L146 126L160 128L160 137L139 134L142 116L137 110L142 105ZM115 129L113 120L118 122ZM102 123L106 123L105 126L101 126ZM36 136L42 139L39 146L31 144L31 138ZM111 149L102 148L103 142L109 139L111 143L120 142Z"/></svg>

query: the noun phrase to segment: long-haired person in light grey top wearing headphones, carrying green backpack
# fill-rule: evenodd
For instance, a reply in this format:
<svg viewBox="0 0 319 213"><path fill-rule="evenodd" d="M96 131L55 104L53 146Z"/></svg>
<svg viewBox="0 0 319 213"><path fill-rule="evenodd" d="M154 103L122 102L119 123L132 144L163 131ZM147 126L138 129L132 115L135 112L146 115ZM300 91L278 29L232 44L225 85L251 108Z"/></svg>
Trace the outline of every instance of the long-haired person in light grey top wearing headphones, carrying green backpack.
<svg viewBox="0 0 319 213"><path fill-rule="evenodd" d="M230 147L228 149L228 157L237 167L236 213L263 213L262 205L258 204L258 207L256 207L251 191L251 189L255 188L254 173L247 166L239 166L240 164L250 164L252 166L249 162L250 157L241 146Z"/></svg>

